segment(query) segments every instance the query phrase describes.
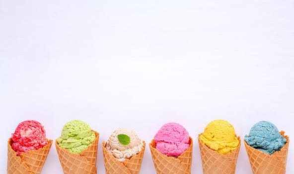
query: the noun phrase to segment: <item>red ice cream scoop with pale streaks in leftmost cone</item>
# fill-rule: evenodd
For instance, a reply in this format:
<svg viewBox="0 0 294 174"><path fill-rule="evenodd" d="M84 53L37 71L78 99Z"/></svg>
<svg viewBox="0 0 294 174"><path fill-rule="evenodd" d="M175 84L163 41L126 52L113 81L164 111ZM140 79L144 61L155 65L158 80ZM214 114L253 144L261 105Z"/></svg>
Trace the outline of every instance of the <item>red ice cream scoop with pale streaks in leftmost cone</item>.
<svg viewBox="0 0 294 174"><path fill-rule="evenodd" d="M48 144L44 127L35 120L19 123L11 139L11 147L17 155L30 150L38 150Z"/></svg>

